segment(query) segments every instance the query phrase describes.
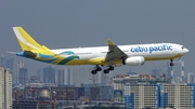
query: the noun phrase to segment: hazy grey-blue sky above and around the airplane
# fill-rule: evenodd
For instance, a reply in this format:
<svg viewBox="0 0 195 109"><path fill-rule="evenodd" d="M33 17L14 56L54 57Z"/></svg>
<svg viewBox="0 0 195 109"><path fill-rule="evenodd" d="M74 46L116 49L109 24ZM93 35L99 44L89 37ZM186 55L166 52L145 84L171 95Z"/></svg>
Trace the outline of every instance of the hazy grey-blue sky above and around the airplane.
<svg viewBox="0 0 195 109"><path fill-rule="evenodd" d="M182 59L185 71L191 72L195 58L194 5L194 0L1 0L0 54L21 51L12 27L22 26L50 49L107 45L107 39L116 44L180 43L190 50ZM48 66L12 57L23 60L30 72ZM116 68L115 73L129 69L151 72L156 67L166 70L167 62Z"/></svg>

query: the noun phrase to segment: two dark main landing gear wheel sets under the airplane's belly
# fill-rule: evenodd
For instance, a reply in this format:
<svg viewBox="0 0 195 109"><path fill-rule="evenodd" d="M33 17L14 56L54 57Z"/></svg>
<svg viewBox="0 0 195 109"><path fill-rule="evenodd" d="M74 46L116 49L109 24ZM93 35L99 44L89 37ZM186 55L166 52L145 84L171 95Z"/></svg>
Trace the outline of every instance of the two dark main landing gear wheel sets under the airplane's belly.
<svg viewBox="0 0 195 109"><path fill-rule="evenodd" d="M106 69L104 69L104 73L109 73L109 71L113 71L115 68L113 66L108 66ZM94 67L94 70L91 71L92 74L96 74L98 71L102 71L102 68L96 65Z"/></svg>

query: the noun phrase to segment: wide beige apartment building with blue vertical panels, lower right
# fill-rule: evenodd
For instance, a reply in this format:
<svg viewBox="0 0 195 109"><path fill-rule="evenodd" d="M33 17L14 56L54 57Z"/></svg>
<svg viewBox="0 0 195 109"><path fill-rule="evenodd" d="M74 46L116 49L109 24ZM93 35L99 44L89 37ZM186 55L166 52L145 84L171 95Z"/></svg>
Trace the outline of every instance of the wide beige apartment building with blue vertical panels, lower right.
<svg viewBox="0 0 195 109"><path fill-rule="evenodd" d="M132 109L195 106L195 84L126 84L126 107Z"/></svg>

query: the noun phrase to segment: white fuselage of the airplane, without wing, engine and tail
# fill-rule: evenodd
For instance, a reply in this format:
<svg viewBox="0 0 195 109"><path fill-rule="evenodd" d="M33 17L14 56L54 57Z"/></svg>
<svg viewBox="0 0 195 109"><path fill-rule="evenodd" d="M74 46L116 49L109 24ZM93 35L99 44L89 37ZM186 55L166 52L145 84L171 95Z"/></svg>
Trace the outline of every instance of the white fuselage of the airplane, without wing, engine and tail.
<svg viewBox="0 0 195 109"><path fill-rule="evenodd" d="M118 45L118 47L123 53L126 53L128 57L143 56L145 60L173 59L181 57L188 52L188 50L183 47L183 45L176 43ZM78 55L80 57L79 60L82 60L83 64L88 65L88 60L91 58L98 58L98 57L105 58L108 52L108 46L61 49L61 50L51 50L51 51L56 54L64 55L65 57L69 55ZM62 54L63 52L67 52L67 51L74 52L74 54ZM89 63L89 65L91 63Z"/></svg>

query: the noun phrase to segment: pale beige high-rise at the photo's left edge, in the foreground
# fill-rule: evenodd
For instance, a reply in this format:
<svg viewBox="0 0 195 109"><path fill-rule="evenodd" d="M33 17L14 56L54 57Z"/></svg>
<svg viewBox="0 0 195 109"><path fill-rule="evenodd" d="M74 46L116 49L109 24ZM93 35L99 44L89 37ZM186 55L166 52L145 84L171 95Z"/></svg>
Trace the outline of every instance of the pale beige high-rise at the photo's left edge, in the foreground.
<svg viewBox="0 0 195 109"><path fill-rule="evenodd" d="M0 109L12 109L12 72L0 67Z"/></svg>

